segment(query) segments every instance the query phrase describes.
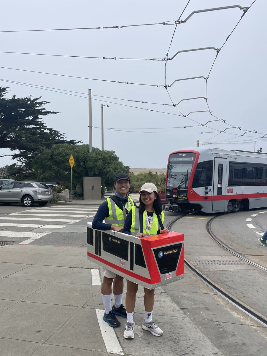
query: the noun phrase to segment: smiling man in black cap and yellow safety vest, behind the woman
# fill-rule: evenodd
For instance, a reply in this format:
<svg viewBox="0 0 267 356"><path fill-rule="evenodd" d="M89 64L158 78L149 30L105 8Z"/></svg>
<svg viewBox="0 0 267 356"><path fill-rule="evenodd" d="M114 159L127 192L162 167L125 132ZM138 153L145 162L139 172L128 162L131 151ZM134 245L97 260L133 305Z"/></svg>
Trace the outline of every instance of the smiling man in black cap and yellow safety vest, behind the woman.
<svg viewBox="0 0 267 356"><path fill-rule="evenodd" d="M129 196L130 178L125 173L119 173L114 179L115 195L102 203L95 214L92 227L96 230L114 230L121 232L128 211L135 205ZM103 222L105 221L105 222ZM111 284L113 282L114 305L111 308ZM127 318L126 309L122 304L123 277L104 269L101 295L105 306L103 320L112 326L120 326L116 315Z"/></svg>

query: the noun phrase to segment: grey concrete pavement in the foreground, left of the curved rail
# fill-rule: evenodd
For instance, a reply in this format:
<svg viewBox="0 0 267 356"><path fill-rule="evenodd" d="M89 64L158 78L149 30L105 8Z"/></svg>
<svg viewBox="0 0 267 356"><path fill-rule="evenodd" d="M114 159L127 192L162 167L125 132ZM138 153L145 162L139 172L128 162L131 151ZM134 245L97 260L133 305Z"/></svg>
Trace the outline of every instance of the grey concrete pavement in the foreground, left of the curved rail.
<svg viewBox="0 0 267 356"><path fill-rule="evenodd" d="M196 350L199 355L222 355L162 288L155 291L153 318L164 330L163 336L142 330L143 291L139 288L135 338L124 339L126 319L118 317L118 328L103 321L102 272L87 260L85 247L0 247L1 355L177 356L194 355ZM173 282L173 288L177 287ZM125 292L126 282L123 300Z"/></svg>

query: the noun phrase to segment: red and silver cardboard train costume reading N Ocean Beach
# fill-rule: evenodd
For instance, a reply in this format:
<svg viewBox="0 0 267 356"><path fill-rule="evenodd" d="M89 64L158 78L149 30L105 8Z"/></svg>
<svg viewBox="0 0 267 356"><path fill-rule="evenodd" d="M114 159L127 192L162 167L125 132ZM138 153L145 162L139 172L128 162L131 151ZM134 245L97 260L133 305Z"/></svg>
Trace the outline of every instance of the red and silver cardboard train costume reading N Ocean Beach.
<svg viewBox="0 0 267 356"><path fill-rule="evenodd" d="M179 232L140 239L87 223L87 257L148 289L177 281L184 274L184 235Z"/></svg>

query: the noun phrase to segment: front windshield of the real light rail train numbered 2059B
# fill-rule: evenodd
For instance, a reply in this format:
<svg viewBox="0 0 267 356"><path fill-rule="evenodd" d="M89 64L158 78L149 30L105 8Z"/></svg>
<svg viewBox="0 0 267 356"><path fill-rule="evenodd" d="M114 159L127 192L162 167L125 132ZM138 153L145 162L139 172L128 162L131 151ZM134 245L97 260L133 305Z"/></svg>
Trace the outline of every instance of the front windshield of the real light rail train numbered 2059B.
<svg viewBox="0 0 267 356"><path fill-rule="evenodd" d="M177 152L169 157L167 188L187 189L196 154Z"/></svg>

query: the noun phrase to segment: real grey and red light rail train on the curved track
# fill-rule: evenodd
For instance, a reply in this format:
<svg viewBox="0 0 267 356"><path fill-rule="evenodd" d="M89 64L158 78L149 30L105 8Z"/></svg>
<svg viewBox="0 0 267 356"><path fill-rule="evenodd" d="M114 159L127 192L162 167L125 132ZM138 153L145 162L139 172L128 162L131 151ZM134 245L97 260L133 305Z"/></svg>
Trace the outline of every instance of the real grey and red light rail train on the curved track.
<svg viewBox="0 0 267 356"><path fill-rule="evenodd" d="M194 147L169 155L165 211L219 213L267 206L267 153Z"/></svg>

